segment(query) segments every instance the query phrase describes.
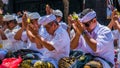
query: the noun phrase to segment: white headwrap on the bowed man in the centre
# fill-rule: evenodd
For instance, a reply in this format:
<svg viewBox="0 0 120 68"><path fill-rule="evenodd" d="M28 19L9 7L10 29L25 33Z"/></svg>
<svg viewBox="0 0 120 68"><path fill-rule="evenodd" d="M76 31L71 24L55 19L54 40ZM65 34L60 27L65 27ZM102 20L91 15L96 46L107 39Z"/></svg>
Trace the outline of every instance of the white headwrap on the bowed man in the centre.
<svg viewBox="0 0 120 68"><path fill-rule="evenodd" d="M53 14L46 15L46 16L43 16L43 17L39 18L38 24L47 25L48 23L50 23L50 22L52 22L54 20L56 20L55 15L53 15Z"/></svg>

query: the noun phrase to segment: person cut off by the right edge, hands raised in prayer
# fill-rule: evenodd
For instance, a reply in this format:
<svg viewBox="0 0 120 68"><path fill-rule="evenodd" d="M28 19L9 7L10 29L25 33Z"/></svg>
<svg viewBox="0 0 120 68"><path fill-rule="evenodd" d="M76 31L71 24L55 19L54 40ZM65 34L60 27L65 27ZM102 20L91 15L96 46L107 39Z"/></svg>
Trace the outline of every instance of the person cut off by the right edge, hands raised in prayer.
<svg viewBox="0 0 120 68"><path fill-rule="evenodd" d="M117 14L117 11L114 10L112 12L112 18L110 23L108 24L108 27L112 30L113 37L114 37L114 46L118 53L115 53L115 56L117 57L117 62L120 62L120 16ZM116 63L117 63L116 62ZM120 67L120 64L119 64ZM119 68L118 67L118 68Z"/></svg>

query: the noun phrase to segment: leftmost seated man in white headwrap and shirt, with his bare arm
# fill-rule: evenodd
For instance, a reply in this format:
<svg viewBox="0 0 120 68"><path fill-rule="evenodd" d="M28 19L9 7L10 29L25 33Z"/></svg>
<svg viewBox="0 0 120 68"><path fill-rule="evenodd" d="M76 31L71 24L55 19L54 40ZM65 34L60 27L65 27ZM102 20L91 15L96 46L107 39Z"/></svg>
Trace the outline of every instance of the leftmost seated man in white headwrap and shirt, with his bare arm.
<svg viewBox="0 0 120 68"><path fill-rule="evenodd" d="M0 48L0 60L3 60L9 51L14 52L23 48L19 46L21 42L14 39L15 33L19 30L15 17L13 15L4 15L3 23L4 25L0 29L0 44L2 44L2 48Z"/></svg>

